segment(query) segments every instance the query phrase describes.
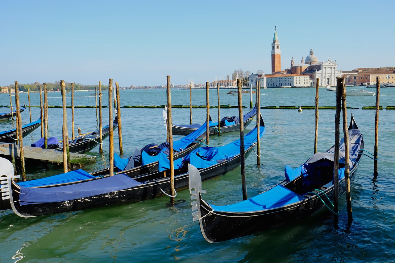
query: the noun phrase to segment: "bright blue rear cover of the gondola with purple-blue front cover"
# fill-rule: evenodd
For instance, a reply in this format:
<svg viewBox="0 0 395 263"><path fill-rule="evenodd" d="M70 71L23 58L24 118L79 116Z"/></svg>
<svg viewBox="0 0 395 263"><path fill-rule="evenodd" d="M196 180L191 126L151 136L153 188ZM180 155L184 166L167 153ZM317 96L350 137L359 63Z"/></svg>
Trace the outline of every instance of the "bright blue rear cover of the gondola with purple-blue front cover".
<svg viewBox="0 0 395 263"><path fill-rule="evenodd" d="M257 128L255 127L244 136L245 150L256 143L256 130ZM264 133L265 126L261 126L260 137L262 137ZM162 153L159 155L161 154ZM240 154L240 139L220 147L200 147L190 152L184 158L174 160L174 169L179 169L182 165L187 165L187 163L194 165L198 169L207 168L214 164L229 160L237 154ZM159 171L170 168L170 161L165 156L162 157L163 158L159 158Z"/></svg>

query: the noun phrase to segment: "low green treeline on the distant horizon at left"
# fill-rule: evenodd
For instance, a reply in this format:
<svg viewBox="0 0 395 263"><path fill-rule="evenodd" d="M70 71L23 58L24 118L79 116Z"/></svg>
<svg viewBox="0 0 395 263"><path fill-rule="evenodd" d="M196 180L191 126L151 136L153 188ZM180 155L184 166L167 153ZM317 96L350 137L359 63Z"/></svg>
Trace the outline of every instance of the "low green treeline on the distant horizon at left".
<svg viewBox="0 0 395 263"><path fill-rule="evenodd" d="M71 90L71 83L64 82L66 85L66 90ZM55 83L46 83L48 90L60 90L60 81L55 81ZM30 84L19 84L19 90L27 92L28 90L32 91L40 91L40 86L43 87L42 83L30 83ZM9 88L15 88L15 85L9 85ZM99 90L99 85L83 85L79 83L74 83L74 90L95 90L97 88ZM102 90L108 90L108 86L102 85Z"/></svg>

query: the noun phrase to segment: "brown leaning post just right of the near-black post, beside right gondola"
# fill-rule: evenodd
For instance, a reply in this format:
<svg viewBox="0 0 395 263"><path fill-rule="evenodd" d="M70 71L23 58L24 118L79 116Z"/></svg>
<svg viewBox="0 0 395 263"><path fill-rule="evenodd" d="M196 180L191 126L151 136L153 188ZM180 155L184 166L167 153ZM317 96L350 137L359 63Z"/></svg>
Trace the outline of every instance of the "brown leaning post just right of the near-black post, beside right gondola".
<svg viewBox="0 0 395 263"><path fill-rule="evenodd" d="M342 112L343 112L343 136L344 136L344 180L346 183L346 203L348 223L352 222L352 208L351 208L351 188L350 188L350 153L349 153L349 139L347 126L347 105L346 105L346 86L344 85L344 78L339 79L341 95L342 95Z"/></svg>

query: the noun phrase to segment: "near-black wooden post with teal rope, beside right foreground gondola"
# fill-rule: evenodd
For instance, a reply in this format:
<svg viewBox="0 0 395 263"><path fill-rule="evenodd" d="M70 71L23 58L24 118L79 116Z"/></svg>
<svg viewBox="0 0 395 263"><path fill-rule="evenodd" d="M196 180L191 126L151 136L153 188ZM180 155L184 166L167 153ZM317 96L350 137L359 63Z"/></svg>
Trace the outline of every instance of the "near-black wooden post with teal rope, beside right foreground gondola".
<svg viewBox="0 0 395 263"><path fill-rule="evenodd" d="M339 211L339 141L340 141L340 109L341 109L341 88L339 77L336 85L336 114L335 114L335 160L333 164L333 210Z"/></svg>

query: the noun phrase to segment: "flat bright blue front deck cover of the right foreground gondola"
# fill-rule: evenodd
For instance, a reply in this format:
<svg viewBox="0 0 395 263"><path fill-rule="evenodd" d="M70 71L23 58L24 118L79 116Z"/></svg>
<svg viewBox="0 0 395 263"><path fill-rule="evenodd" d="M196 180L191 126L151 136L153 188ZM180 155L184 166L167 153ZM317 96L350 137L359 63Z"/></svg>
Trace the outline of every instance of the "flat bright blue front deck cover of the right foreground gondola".
<svg viewBox="0 0 395 263"><path fill-rule="evenodd" d="M278 184L266 192L260 193L245 201L224 206L211 205L211 207L213 207L214 211L254 212L291 205L304 199L306 199L304 196L298 195L281 184Z"/></svg>

